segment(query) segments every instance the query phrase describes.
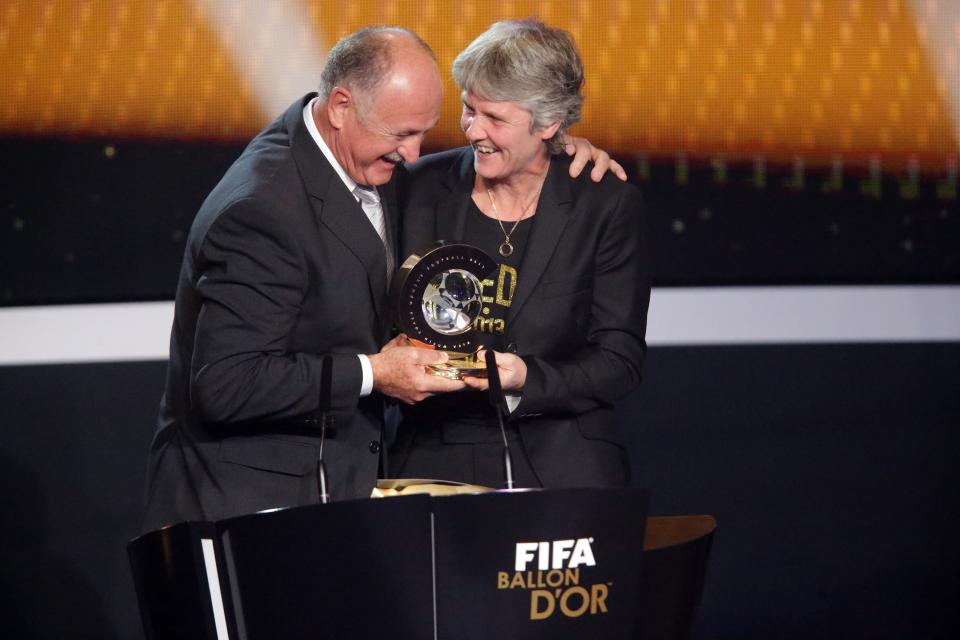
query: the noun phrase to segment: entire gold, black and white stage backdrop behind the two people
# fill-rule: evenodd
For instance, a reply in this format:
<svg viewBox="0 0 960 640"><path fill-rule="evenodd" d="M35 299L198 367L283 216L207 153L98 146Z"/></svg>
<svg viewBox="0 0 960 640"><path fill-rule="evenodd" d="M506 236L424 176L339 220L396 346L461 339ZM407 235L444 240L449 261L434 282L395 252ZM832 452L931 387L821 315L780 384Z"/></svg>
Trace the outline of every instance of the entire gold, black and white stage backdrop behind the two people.
<svg viewBox="0 0 960 640"><path fill-rule="evenodd" d="M960 315L957 289L918 305L928 285L960 283L960 3L7 0L5 636L140 637L124 545L165 367L99 334L124 362L30 365L51 362L30 356L51 335L87 328L53 308L46 326L7 319L171 300L205 195L361 26L406 26L434 48L446 85L427 143L463 144L450 62L491 22L528 16L576 38L587 83L573 132L643 190L651 327L695 320L708 336L651 336L643 385L620 407L654 512L719 520L697 637L960 635L960 343L925 329ZM758 284L775 287L759 306L729 288ZM835 302L907 289L846 308L840 331L842 305L797 302L811 284L865 286ZM658 310L658 291L709 295L696 318L658 317L675 309ZM911 315L914 330L872 331ZM714 331L720 318L740 321Z"/></svg>

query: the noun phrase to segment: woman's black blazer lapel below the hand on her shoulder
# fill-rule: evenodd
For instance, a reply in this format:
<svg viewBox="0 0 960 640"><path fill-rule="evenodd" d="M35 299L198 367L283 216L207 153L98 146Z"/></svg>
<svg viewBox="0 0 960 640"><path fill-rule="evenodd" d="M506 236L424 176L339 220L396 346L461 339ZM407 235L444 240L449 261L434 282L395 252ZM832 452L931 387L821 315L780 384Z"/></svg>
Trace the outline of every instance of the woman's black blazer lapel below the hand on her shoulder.
<svg viewBox="0 0 960 640"><path fill-rule="evenodd" d="M551 162L547 171L543 190L540 192L540 202L537 204L537 214L533 218L530 239L520 264L517 290L507 312L507 326L510 326L530 298L530 294L536 290L570 218L573 198L570 194L570 179L564 166L564 163Z"/></svg>

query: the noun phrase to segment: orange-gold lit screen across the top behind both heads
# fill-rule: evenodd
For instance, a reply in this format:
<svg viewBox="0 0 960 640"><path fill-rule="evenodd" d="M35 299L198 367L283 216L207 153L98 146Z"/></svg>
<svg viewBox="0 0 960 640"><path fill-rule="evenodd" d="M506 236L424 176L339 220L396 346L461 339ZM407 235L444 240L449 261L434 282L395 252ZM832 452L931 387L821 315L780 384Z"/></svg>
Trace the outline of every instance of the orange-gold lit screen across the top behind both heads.
<svg viewBox="0 0 960 640"><path fill-rule="evenodd" d="M338 38L395 24L446 77L429 146L457 146L450 63L527 16L576 38L574 132L611 151L956 170L954 0L3 0L0 135L245 140L313 90Z"/></svg>

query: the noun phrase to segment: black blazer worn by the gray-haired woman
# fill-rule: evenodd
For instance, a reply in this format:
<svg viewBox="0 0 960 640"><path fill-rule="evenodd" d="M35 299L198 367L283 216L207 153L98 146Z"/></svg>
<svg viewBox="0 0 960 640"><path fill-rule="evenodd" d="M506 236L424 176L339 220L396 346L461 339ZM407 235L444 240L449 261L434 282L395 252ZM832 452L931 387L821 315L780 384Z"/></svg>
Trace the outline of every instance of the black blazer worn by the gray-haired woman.
<svg viewBox="0 0 960 640"><path fill-rule="evenodd" d="M543 486L623 484L629 471L613 403L639 384L646 352L644 209L633 185L609 174L594 183L586 171L571 180L568 167L565 156L551 161L507 315L505 342L528 367L509 420ZM399 196L402 255L463 237L473 183L469 148L411 168ZM447 443L500 437L469 424L442 429Z"/></svg>

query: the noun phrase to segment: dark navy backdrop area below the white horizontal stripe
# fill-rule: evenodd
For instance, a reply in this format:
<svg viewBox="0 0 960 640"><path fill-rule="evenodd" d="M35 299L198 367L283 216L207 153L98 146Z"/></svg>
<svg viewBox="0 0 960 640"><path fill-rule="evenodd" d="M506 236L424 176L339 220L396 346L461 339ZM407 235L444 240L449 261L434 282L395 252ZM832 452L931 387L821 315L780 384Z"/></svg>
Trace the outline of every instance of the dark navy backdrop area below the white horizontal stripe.
<svg viewBox="0 0 960 640"><path fill-rule="evenodd" d="M164 363L0 368L4 637L141 637ZM655 514L719 522L698 638L960 631L960 345L650 351L621 407Z"/></svg>

